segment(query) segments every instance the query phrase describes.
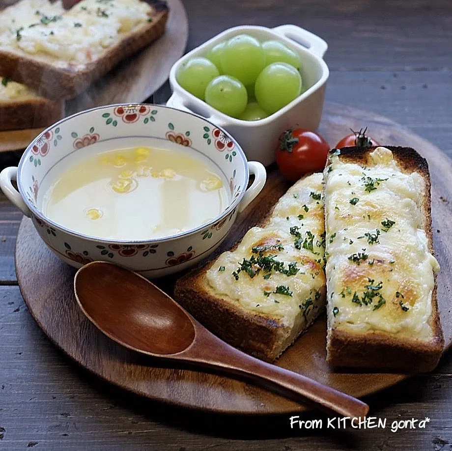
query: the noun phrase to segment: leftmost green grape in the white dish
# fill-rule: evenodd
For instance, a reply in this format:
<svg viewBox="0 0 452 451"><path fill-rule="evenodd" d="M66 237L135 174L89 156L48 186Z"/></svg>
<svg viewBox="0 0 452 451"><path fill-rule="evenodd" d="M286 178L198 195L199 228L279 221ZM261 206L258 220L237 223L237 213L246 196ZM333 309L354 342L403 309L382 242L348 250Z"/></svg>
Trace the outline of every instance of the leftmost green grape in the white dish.
<svg viewBox="0 0 452 451"><path fill-rule="evenodd" d="M188 92L204 100L205 88L219 75L220 73L212 61L196 57L190 58L178 68L176 80Z"/></svg>

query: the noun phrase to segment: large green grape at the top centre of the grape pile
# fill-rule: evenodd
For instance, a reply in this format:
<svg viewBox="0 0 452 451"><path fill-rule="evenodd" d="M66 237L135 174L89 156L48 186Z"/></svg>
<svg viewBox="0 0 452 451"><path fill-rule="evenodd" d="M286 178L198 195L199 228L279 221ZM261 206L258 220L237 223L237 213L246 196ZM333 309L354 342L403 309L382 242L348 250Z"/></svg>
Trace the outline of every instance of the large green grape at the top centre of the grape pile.
<svg viewBox="0 0 452 451"><path fill-rule="evenodd" d="M239 34L226 42L221 53L221 67L227 75L252 85L265 67L265 53L259 41L248 34Z"/></svg>

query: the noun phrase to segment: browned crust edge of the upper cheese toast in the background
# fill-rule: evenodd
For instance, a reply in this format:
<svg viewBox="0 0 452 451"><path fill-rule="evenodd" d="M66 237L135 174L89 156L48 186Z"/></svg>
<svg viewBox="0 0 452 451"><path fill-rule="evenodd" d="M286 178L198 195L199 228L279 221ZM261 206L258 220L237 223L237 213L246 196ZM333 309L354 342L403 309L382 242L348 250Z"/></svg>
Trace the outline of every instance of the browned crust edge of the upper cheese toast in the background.
<svg viewBox="0 0 452 451"><path fill-rule="evenodd" d="M147 46L160 37L168 19L168 6L163 1L148 0L154 5L152 22L123 37L98 59L86 64L82 70L59 68L32 56L0 50L0 75L24 83L43 97L71 99L84 91L93 81L110 71L119 61Z"/></svg>

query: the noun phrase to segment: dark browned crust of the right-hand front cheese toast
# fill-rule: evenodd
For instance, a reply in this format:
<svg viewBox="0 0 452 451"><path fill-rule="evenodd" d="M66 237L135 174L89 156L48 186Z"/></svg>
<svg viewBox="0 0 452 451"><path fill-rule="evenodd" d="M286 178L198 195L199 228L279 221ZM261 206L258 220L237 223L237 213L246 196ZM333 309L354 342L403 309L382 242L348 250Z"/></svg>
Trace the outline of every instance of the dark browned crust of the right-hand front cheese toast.
<svg viewBox="0 0 452 451"><path fill-rule="evenodd" d="M340 149L339 158L341 161L365 165L368 154L376 147L378 146L368 149L345 147ZM427 161L410 147L385 147L393 152L393 156L403 172L418 172L424 178L425 193L422 205L424 231L428 238L429 251L433 254L431 184ZM429 319L433 338L429 343L397 338L383 332L350 334L337 329L329 329L327 362L332 366L385 368L401 372L425 372L432 370L438 364L444 347L436 288L435 275L435 285L431 300L432 313Z"/></svg>

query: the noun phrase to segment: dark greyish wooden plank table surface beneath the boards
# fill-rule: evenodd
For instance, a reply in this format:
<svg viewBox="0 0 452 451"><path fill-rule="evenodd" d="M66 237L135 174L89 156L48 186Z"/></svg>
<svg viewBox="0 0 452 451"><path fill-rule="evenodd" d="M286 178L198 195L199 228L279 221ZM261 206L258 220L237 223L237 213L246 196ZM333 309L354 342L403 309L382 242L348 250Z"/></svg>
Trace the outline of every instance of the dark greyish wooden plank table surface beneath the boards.
<svg viewBox="0 0 452 451"><path fill-rule="evenodd" d="M410 128L452 157L450 0L184 0L188 49L235 25L293 23L329 44L326 100ZM164 102L168 85L154 100ZM364 125L364 124L363 124ZM2 154L0 168L19 152ZM451 181L452 182L452 181ZM451 208L445 202L446 208ZM288 416L237 417L168 407L113 388L63 355L17 286L21 213L0 196L0 450L452 450L452 356L431 374L366 400L386 428L291 429ZM448 239L450 237L443 237ZM391 424L424 420L392 432ZM336 423L337 426L337 423Z"/></svg>

